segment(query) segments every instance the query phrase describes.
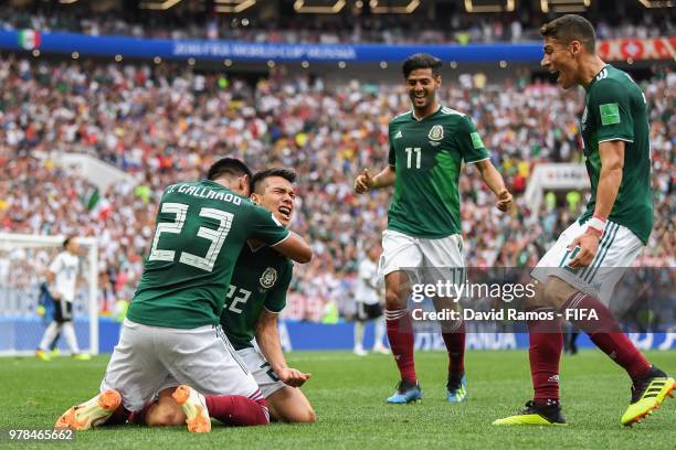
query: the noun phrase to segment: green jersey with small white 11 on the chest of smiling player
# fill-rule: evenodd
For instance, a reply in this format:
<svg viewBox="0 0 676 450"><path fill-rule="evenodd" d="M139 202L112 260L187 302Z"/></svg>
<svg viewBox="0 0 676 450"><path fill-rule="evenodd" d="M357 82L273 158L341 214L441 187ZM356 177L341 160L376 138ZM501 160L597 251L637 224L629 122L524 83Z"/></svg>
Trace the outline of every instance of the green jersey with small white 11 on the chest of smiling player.
<svg viewBox="0 0 676 450"><path fill-rule="evenodd" d="M397 179L388 229L433 239L460 234L461 167L488 158L472 120L440 106L422 120L413 111L395 117L389 135Z"/></svg>

